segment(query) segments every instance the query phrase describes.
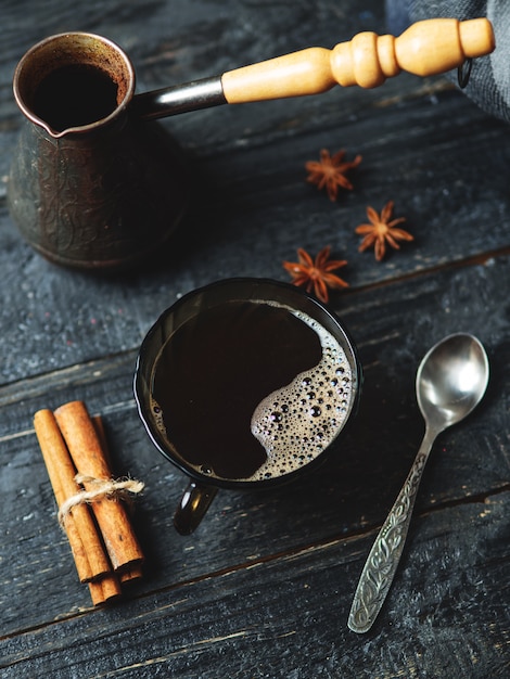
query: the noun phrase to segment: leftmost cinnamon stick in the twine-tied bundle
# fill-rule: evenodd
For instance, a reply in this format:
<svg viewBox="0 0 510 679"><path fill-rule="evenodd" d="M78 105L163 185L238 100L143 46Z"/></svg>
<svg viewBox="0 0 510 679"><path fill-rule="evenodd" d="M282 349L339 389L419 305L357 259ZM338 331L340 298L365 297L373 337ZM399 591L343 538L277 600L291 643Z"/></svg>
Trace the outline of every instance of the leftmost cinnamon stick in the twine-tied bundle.
<svg viewBox="0 0 510 679"><path fill-rule="evenodd" d="M80 491L75 481L76 470L51 410L36 412L34 426L60 508ZM77 504L69 511L64 518L64 528L82 582L111 572L102 540L86 504Z"/></svg>

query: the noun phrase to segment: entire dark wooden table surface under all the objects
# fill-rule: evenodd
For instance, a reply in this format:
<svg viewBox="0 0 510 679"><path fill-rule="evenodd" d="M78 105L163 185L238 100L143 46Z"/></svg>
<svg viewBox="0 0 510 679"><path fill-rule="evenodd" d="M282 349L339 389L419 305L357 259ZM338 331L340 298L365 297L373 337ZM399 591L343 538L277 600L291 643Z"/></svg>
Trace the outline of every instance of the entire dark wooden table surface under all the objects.
<svg viewBox="0 0 510 679"><path fill-rule="evenodd" d="M140 1L2 8L0 41L0 667L8 678L503 677L510 667L510 197L508 127L442 77L189 113L162 125L192 158L194 200L151 266L65 270L20 236L5 204L22 124L12 72L64 30L130 54L138 91L186 82L359 30L384 33L379 0ZM305 181L319 150L360 153L336 203ZM359 253L366 206L395 201L413 234L382 262ZM160 312L218 278L288 280L297 247L331 244L349 282L331 305L365 369L337 453L278 492L221 491L177 535L183 475L153 448L131 382ZM365 559L423 434L415 374L454 332L477 335L492 381L443 434L422 481L400 568L374 627L346 626ZM86 401L118 473L145 483L136 529L144 578L93 608L79 584L33 428L40 408Z"/></svg>

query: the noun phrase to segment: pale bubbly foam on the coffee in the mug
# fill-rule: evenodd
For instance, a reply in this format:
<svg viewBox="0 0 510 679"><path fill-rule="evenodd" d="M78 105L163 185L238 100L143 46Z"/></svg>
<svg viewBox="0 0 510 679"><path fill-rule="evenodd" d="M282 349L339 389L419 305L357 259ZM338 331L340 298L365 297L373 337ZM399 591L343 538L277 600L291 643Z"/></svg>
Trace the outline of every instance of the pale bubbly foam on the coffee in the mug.
<svg viewBox="0 0 510 679"><path fill-rule="evenodd" d="M353 375L342 347L320 323L293 313L318 334L322 358L255 409L251 430L267 460L245 481L282 476L309 463L336 438L350 410Z"/></svg>

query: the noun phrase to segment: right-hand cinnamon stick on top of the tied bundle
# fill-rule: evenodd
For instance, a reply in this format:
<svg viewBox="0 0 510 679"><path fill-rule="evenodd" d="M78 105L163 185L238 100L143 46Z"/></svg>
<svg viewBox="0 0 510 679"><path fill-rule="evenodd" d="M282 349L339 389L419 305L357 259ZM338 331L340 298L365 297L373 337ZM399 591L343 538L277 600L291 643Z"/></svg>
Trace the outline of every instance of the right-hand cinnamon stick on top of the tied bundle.
<svg viewBox="0 0 510 679"><path fill-rule="evenodd" d="M86 490L94 489L89 479L110 481L110 467L85 403L71 401L58 408L54 415L75 467L85 477ZM91 507L114 571L139 566L143 553L124 505L116 498L105 497L94 500Z"/></svg>

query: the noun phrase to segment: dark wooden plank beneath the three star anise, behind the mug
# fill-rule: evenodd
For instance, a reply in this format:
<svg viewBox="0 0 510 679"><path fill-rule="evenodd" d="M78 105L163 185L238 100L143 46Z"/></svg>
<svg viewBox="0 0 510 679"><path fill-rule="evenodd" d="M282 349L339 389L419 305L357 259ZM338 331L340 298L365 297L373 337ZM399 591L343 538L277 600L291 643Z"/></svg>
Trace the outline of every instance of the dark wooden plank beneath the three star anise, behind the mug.
<svg viewBox="0 0 510 679"><path fill-rule="evenodd" d="M390 136L390 129L395 124L401 128L413 106L417 117L422 108L410 102L404 112L383 110L384 119L378 123L381 136L364 141L362 149L358 136L365 134L368 119L347 124L339 137L354 138L353 153L364 152L366 169L359 171L359 190L339 205L305 183L305 161L321 145L332 145L327 132L298 136L292 143L271 138L263 146L200 162L205 176L197 184L201 203L171 246L175 251L150 270L125 277L86 276L46 262L21 241L3 209L0 321L10 351L0 366L0 381L135 349L178 295L229 276L285 280L281 262L295 258L298 246L314 253L331 243L348 259L343 276L353 287L505 251L510 140L500 126L489 125L459 98L446 95L445 113L455 119L468 112L473 126L467 126L467 137L457 146L448 141L451 129L442 130L441 138L436 131L445 115L438 113L439 106L430 107L431 117L409 123L409 134L399 139L396 132ZM410 153L407 144L413 131L417 146ZM278 164L271 161L275 154ZM439 155L448 157L441 167ZM399 187L399 195L391 185ZM468 190L474 185L476 191ZM380 209L390 198L397 201L399 215L408 216L416 242L379 264L371 253L357 252L354 227L366 219L368 203Z"/></svg>

